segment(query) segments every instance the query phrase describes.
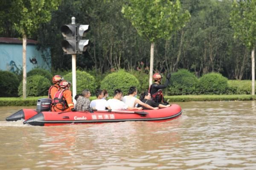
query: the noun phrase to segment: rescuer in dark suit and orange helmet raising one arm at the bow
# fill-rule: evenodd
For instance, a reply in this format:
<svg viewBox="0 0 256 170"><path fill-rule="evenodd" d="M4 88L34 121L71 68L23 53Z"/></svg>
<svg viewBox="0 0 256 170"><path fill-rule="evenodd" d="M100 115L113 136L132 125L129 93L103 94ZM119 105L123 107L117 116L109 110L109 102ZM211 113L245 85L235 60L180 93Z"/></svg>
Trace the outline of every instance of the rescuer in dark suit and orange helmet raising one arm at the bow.
<svg viewBox="0 0 256 170"><path fill-rule="evenodd" d="M166 102L163 98L163 88L166 88L170 83L171 74L168 74L166 77L166 82L164 85L161 85L161 79L163 77L159 73L155 73L153 75L154 83L149 86L148 92L151 94L152 100L154 100L157 103L169 105L168 102Z"/></svg>

